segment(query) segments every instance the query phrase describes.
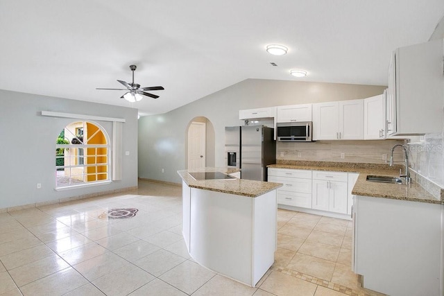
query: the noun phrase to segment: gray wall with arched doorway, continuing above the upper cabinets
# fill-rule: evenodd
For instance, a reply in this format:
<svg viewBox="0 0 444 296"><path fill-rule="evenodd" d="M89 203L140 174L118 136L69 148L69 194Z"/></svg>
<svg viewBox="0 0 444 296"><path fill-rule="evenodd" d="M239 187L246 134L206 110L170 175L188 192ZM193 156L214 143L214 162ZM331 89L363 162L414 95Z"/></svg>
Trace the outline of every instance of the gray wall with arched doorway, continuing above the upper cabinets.
<svg viewBox="0 0 444 296"><path fill-rule="evenodd" d="M239 110L277 105L366 98L386 87L321 82L247 79L166 114L139 119L139 177L180 183L186 168L186 131L191 119L205 116L214 127L215 166L223 167L225 126L243 125ZM164 173L162 173L164 168Z"/></svg>

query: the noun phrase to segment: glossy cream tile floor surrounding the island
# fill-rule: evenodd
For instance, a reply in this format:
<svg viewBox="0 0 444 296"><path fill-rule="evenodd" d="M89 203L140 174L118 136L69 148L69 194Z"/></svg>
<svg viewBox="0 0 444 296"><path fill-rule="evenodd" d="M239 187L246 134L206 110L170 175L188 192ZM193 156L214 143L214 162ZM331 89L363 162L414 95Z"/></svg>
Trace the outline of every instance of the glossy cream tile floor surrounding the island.
<svg viewBox="0 0 444 296"><path fill-rule="evenodd" d="M135 208L128 219L112 208ZM101 218L99 218L101 216ZM0 295L379 295L350 271L349 221L278 211L275 264L255 288L194 262L179 186L0 214Z"/></svg>

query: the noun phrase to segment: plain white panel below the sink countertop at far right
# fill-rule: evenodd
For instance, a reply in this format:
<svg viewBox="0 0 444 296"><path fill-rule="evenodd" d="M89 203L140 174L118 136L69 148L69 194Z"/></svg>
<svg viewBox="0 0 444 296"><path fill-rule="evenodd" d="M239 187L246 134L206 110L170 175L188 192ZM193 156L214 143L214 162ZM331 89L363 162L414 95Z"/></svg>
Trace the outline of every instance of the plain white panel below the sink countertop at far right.
<svg viewBox="0 0 444 296"><path fill-rule="evenodd" d="M388 295L440 295L441 204L357 195L357 273Z"/></svg>

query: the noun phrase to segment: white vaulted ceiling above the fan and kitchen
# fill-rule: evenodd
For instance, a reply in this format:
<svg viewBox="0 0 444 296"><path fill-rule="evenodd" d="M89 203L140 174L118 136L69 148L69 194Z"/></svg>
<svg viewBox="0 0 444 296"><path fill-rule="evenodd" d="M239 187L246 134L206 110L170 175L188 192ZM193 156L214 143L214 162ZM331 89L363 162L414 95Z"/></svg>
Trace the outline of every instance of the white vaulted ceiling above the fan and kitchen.
<svg viewBox="0 0 444 296"><path fill-rule="evenodd" d="M0 89L145 115L247 78L386 85L391 51L427 42L443 15L443 0L0 0ZM96 90L130 82L130 64L160 98Z"/></svg>

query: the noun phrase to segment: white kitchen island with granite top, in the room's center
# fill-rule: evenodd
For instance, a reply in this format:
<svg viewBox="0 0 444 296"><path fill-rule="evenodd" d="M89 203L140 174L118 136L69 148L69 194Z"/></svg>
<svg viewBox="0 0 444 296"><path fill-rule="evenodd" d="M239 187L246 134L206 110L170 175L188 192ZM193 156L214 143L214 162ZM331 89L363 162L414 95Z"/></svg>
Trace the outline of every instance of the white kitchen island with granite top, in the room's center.
<svg viewBox="0 0 444 296"><path fill-rule="evenodd" d="M274 262L276 189L282 184L237 178L196 180L187 170L178 174L182 233L191 257L225 277L255 286Z"/></svg>

